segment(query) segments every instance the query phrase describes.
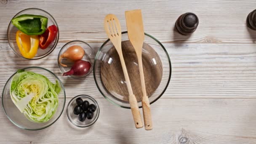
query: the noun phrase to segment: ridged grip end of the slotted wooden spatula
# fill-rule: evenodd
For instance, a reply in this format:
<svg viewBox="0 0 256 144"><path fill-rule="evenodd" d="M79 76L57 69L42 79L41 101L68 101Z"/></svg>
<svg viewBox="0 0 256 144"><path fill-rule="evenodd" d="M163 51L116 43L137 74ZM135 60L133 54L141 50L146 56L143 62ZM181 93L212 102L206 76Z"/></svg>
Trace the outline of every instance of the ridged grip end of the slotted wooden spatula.
<svg viewBox="0 0 256 144"><path fill-rule="evenodd" d="M129 102L130 102L130 106L131 106L131 112L133 114L133 120L135 123L135 127L142 128L143 122L142 122L142 118L141 118L141 113L139 111L138 102L137 102L137 99L134 94L129 96Z"/></svg>

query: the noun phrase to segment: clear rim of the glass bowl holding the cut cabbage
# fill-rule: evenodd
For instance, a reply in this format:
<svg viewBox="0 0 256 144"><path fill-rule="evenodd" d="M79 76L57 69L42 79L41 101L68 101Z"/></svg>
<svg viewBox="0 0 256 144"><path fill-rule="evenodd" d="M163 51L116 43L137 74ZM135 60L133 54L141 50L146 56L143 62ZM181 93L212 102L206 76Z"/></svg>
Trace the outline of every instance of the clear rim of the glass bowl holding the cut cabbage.
<svg viewBox="0 0 256 144"><path fill-rule="evenodd" d="M61 114L62 114L62 112L63 112L63 110L64 110L64 108L65 108L65 104L66 104L66 93L65 93L64 85L62 84L62 82L61 82L61 80L59 79L59 77L57 77L57 76L56 76L53 72L51 72L50 70L45 69L45 68L43 68L43 67L25 67L25 68L23 68L23 69L31 69L31 68L46 70L47 72L50 72L51 74L53 74L53 75L60 81L60 85L61 85L61 87L63 88L63 92L64 92L64 104L63 104L63 108L62 108L62 110L61 110L60 115L57 117L57 119L56 119L55 121L53 121L53 123L55 123L55 122L59 119L59 117L61 116ZM16 73L17 73L17 72L15 72L13 75L15 75ZM3 92L4 92L4 90L5 90L5 87L6 87L6 85L7 85L7 82L8 82L9 80L11 80L11 78L13 77L13 75L11 75L11 77L6 81L5 86L3 87ZM4 93L2 93L2 106L3 106L3 94L4 94ZM58 107L59 107L59 106L58 106ZM4 106L3 106L3 110L4 110L4 112L5 112L5 107L4 107ZM55 114L56 114L56 113L55 113ZM54 114L54 115L55 115L55 114ZM11 120L11 118L7 115L6 112L5 112L5 115L8 117L8 119L9 119L14 125L16 125L16 126L19 127L19 128L22 128L22 127L20 127L19 125L17 125L15 122L13 122L13 120ZM22 128L22 129L29 130L29 131L37 131L37 130L42 130L42 129L44 129L44 128L48 128L48 127L51 126L53 123L51 123L50 125L47 125L47 126L45 126L45 127L43 127L43 128L39 128L39 129L28 129L28 128Z"/></svg>

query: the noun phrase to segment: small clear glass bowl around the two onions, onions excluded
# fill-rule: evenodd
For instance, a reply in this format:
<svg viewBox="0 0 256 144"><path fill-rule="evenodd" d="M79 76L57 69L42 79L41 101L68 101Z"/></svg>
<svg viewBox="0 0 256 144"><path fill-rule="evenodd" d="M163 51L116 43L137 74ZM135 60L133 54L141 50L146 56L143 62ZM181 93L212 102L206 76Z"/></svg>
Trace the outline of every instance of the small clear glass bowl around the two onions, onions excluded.
<svg viewBox="0 0 256 144"><path fill-rule="evenodd" d="M69 47L71 47L71 46L73 46L73 45L79 45L79 46L81 46L81 47L85 50L85 55L83 56L83 59L81 59L81 60L90 62L90 63L91 63L91 69L90 69L85 75L82 75L82 76L68 75L68 77L72 77L72 78L81 78L81 77L85 77L85 76L89 75L89 74L91 73L91 71L93 70L93 63L94 63L94 58L95 58L94 51L93 51L93 49L91 48L91 46L90 46L88 43L85 43L85 42L80 41L80 40L74 40L74 41L71 41L71 42L66 43L66 44L61 48L61 50L59 51L59 55L58 55L57 61L59 60L59 57L60 57ZM68 71L71 69L71 67L73 66L73 64L74 64L73 61L70 61L69 59L66 59L66 58L61 59L61 63L67 65L67 67L63 67L63 66L59 63L59 61L58 61L59 69L61 69L61 72L62 72L62 73L68 72Z"/></svg>

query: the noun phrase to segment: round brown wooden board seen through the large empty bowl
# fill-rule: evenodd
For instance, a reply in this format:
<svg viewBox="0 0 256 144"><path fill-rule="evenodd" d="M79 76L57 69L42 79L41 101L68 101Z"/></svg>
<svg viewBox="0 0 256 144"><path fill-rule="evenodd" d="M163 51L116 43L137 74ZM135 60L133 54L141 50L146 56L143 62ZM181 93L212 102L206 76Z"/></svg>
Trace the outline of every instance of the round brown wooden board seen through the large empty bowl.
<svg viewBox="0 0 256 144"><path fill-rule="evenodd" d="M134 48L129 40L122 42L122 51L133 93L135 94L137 101L141 101L142 90L138 60ZM125 85L125 78L120 59L114 46L109 49L107 56L109 57L109 60L101 64L102 83L113 97L123 101L129 101L129 94ZM163 67L158 54L150 45L146 43L143 44L142 63L146 91L147 95L150 97L162 80Z"/></svg>

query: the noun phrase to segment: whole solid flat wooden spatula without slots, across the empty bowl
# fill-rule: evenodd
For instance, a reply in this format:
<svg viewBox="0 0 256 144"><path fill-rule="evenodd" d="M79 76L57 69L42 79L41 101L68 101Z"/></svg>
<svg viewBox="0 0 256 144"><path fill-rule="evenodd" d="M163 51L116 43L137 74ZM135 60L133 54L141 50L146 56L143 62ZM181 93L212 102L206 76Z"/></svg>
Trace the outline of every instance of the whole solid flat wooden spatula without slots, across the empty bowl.
<svg viewBox="0 0 256 144"><path fill-rule="evenodd" d="M146 92L144 72L142 66L142 45L144 41L144 29L142 22L141 10L125 11L125 19L128 31L128 37L133 45L139 63L139 74L141 78L141 88L142 88L142 109L144 117L144 125L146 130L152 130L152 118L151 110L149 104L149 98Z"/></svg>

